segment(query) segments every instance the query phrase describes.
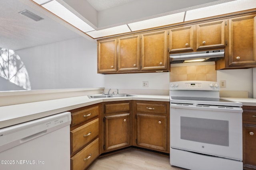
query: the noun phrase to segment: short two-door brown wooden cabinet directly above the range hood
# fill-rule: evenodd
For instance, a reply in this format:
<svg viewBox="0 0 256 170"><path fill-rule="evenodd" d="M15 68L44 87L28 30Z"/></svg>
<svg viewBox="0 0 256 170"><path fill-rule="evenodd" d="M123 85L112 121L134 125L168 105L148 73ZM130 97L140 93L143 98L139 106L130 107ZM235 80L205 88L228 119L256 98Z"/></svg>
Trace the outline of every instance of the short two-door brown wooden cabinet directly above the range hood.
<svg viewBox="0 0 256 170"><path fill-rule="evenodd" d="M225 20L218 20L170 29L169 52L223 49L225 26Z"/></svg>

